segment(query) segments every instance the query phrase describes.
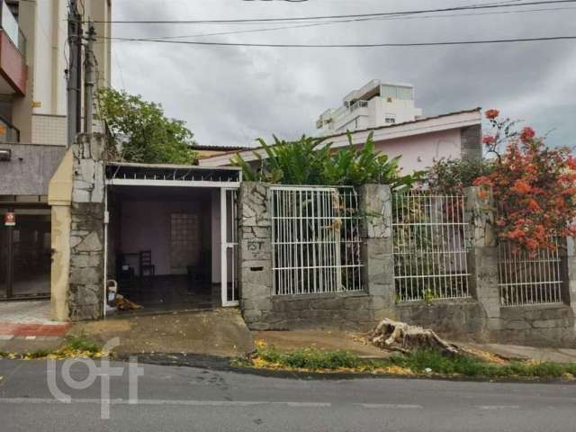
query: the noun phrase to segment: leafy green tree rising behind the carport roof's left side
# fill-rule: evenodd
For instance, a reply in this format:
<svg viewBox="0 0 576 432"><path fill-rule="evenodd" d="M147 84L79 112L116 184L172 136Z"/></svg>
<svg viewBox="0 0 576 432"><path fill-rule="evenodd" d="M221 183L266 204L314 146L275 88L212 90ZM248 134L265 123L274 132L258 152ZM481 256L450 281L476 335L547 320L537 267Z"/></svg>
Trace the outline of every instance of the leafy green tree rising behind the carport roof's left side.
<svg viewBox="0 0 576 432"><path fill-rule="evenodd" d="M112 157L148 164L193 164L193 133L185 122L166 117L158 103L113 88L98 93L103 120L117 138L109 148ZM117 148L121 148L118 155Z"/></svg>

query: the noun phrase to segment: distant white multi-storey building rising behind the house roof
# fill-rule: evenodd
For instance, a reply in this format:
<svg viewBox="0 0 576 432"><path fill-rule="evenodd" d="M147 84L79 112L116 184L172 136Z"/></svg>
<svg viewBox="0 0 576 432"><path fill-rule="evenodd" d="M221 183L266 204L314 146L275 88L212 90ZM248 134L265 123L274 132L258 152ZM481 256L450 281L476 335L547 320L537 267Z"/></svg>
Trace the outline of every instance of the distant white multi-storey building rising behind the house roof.
<svg viewBox="0 0 576 432"><path fill-rule="evenodd" d="M421 116L422 110L414 105L413 85L373 79L347 94L338 108L322 112L316 128L319 135L333 135L415 121Z"/></svg>

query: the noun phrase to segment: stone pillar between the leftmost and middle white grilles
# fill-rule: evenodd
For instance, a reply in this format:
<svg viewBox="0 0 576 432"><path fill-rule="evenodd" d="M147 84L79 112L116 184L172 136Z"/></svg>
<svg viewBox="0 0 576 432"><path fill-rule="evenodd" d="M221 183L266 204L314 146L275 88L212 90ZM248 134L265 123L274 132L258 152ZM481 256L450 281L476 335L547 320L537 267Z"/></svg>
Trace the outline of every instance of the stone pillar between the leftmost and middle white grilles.
<svg viewBox="0 0 576 432"><path fill-rule="evenodd" d="M394 305L394 258L392 256L392 193L384 184L364 184L359 188L360 212L364 215L363 281L367 292L380 298L382 310Z"/></svg>

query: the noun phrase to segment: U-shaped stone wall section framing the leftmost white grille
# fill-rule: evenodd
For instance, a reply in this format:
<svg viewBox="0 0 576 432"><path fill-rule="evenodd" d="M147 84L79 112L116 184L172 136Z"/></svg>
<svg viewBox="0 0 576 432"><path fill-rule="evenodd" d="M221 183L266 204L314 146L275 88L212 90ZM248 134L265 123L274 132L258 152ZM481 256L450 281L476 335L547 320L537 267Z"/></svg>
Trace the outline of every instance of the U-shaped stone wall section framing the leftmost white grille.
<svg viewBox="0 0 576 432"><path fill-rule="evenodd" d="M238 198L240 307L250 329L370 329L392 302L390 220L378 211L390 200L387 186L366 186L372 216L363 227L365 291L274 296L269 188L245 182ZM380 241L382 240L382 241Z"/></svg>

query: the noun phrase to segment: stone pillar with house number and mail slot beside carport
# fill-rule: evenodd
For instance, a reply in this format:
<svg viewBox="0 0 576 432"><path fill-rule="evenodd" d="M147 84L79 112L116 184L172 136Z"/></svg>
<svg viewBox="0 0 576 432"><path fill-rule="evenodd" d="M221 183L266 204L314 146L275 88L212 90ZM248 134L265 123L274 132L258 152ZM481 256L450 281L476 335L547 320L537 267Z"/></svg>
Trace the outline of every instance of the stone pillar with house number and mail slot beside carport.
<svg viewBox="0 0 576 432"><path fill-rule="evenodd" d="M238 197L240 307L250 329L267 329L272 309L272 237L269 188L244 182Z"/></svg>

